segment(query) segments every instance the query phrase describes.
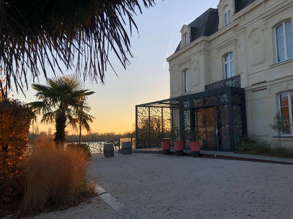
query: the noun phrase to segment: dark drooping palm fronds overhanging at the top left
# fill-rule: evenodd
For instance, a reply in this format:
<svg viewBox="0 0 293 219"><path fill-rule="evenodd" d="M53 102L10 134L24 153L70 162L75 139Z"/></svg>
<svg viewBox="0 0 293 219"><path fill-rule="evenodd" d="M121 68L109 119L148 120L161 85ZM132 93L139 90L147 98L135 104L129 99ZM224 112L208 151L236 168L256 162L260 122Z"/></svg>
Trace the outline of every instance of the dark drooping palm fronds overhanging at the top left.
<svg viewBox="0 0 293 219"><path fill-rule="evenodd" d="M140 3L139 3L140 2ZM8 88L28 88L44 74L47 65L54 74L61 64L74 69L84 80L101 81L107 66L113 69L109 51L124 68L129 64L130 39L125 27L132 25L136 8L148 8L154 0L0 0L0 69ZM128 24L127 24L128 23ZM63 74L63 73L62 73Z"/></svg>

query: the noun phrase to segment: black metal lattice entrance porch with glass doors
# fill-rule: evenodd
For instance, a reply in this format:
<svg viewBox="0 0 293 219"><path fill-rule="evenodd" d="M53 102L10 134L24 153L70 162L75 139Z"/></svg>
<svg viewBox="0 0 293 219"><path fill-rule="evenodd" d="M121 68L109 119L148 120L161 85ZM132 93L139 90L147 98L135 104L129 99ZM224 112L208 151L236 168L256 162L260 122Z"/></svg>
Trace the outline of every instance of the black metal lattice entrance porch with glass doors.
<svg viewBox="0 0 293 219"><path fill-rule="evenodd" d="M234 85L233 80L231 83ZM219 84L223 83L226 84ZM200 93L137 105L136 147L160 146L156 134L171 130L174 119L179 120L181 129L189 131L196 128L204 132L202 149L234 151L242 136L247 134L244 89L220 86ZM181 140L185 141L185 148L188 149L189 142L185 136L181 136Z"/></svg>

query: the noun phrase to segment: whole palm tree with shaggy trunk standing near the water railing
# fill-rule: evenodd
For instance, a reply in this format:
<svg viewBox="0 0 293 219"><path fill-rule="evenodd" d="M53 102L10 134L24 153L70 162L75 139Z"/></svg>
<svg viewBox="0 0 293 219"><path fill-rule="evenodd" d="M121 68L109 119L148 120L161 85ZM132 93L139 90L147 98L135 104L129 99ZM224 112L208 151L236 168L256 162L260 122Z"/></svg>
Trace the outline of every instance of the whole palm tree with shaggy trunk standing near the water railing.
<svg viewBox="0 0 293 219"><path fill-rule="evenodd" d="M78 131L78 124L81 124L82 128L91 133L89 123L93 122L94 117L87 114L91 107L85 103L87 96L95 92L82 87L83 83L76 75L48 79L45 85L32 84L32 88L37 91L35 97L39 100L30 103L35 113L34 120L42 114L41 123L55 124L56 145L64 144L66 126Z"/></svg>

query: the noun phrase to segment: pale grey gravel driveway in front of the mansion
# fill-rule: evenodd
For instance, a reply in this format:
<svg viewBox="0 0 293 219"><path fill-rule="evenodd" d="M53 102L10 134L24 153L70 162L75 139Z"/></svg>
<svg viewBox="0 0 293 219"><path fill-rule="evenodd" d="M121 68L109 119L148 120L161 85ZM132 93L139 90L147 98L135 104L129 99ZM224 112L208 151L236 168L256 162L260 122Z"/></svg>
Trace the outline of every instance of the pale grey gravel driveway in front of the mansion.
<svg viewBox="0 0 293 219"><path fill-rule="evenodd" d="M93 154L90 177L143 218L293 218L293 166Z"/></svg>

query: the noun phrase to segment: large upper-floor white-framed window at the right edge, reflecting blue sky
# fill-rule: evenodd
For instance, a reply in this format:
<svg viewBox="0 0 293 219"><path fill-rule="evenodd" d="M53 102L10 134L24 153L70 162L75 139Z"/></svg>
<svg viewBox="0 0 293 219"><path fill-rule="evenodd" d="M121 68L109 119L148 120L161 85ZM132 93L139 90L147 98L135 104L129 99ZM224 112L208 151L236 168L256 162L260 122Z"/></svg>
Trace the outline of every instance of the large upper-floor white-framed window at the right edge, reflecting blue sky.
<svg viewBox="0 0 293 219"><path fill-rule="evenodd" d="M287 21L276 27L278 62L293 58L292 22Z"/></svg>

